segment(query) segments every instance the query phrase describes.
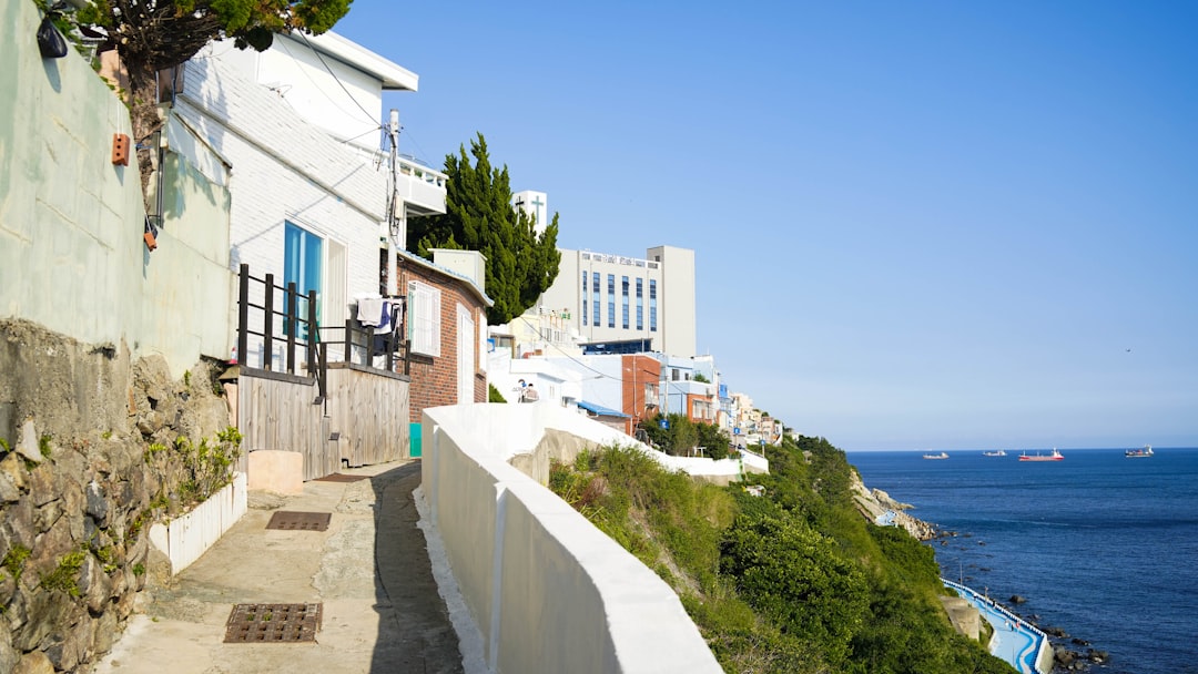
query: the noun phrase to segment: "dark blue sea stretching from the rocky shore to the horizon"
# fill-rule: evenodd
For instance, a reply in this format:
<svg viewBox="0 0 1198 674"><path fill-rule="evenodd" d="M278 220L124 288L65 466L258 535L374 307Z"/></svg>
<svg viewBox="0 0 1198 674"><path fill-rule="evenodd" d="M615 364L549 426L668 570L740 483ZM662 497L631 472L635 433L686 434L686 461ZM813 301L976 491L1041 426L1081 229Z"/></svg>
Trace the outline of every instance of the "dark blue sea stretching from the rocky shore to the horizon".
<svg viewBox="0 0 1198 674"><path fill-rule="evenodd" d="M912 516L957 533L928 544L944 577L1025 597L1016 613L1111 655L1094 672L1198 673L1198 449L1063 449L1048 463L1006 451L852 451L848 462Z"/></svg>

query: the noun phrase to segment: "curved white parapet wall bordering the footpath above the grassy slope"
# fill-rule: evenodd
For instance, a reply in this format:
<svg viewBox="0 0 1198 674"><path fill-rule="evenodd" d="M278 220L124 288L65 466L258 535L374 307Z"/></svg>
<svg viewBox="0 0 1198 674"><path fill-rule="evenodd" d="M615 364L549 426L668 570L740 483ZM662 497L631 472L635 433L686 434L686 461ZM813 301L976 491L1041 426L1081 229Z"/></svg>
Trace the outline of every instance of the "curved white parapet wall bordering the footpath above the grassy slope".
<svg viewBox="0 0 1198 674"><path fill-rule="evenodd" d="M673 590L585 517L507 463L546 427L627 436L539 405L424 411L431 524L498 673L720 672Z"/></svg>

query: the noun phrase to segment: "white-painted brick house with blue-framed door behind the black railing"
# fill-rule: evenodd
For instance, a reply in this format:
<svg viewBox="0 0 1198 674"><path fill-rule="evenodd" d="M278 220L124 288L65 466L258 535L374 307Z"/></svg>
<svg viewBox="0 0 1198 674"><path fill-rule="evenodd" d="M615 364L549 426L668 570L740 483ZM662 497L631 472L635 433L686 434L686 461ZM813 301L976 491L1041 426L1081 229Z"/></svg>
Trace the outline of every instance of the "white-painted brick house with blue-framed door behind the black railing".
<svg viewBox="0 0 1198 674"><path fill-rule="evenodd" d="M387 226L392 171L381 153L349 140L377 144L382 91L416 84L333 35L277 36L261 54L217 42L188 61L174 114L230 166L230 268L248 263L255 277L315 290L323 326L341 324L355 296L379 293L381 261L394 260L380 250L399 248ZM409 214L444 211L442 174L405 162L394 177L399 232ZM385 290L397 293L394 281Z"/></svg>

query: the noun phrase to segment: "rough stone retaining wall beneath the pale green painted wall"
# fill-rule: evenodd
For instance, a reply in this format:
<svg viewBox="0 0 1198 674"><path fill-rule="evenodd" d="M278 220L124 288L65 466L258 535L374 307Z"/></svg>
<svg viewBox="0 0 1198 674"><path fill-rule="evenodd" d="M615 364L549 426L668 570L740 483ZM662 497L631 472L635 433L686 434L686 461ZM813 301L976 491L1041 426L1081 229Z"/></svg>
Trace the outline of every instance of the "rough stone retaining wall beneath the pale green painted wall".
<svg viewBox="0 0 1198 674"><path fill-rule="evenodd" d="M171 381L161 357L0 321L0 672L73 672L111 648L151 524L187 506L175 438L229 424L214 375Z"/></svg>

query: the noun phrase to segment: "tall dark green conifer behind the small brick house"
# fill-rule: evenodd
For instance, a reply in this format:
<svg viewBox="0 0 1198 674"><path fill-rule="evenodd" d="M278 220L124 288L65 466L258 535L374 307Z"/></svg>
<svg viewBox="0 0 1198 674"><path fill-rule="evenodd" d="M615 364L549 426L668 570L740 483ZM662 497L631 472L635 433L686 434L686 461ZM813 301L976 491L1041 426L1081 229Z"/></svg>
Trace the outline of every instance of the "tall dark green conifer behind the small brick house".
<svg viewBox="0 0 1198 674"><path fill-rule="evenodd" d="M477 250L486 259L486 295L495 300L486 321L512 321L537 303L557 278L557 213L537 233L533 218L512 206L508 168L491 165L486 140L479 133L458 154L446 156L446 213L413 218L407 248L432 259L431 249Z"/></svg>

